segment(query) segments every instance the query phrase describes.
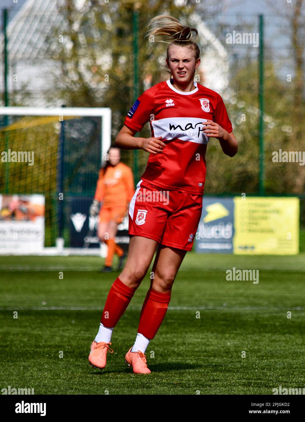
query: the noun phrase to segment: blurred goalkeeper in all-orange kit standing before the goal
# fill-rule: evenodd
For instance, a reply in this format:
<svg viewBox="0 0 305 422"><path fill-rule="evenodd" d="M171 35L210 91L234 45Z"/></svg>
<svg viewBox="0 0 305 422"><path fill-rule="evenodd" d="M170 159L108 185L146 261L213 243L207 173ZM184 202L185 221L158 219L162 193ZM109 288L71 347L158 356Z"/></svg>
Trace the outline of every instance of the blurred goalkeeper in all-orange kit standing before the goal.
<svg viewBox="0 0 305 422"><path fill-rule="evenodd" d="M99 204L103 201L99 212L98 238L108 246L103 272L112 271L114 253L119 257L117 270L122 270L125 253L114 242L117 226L127 213L128 204L134 193L133 174L131 169L120 162L120 149L110 147L105 167L101 168L96 185L90 215L98 215Z"/></svg>

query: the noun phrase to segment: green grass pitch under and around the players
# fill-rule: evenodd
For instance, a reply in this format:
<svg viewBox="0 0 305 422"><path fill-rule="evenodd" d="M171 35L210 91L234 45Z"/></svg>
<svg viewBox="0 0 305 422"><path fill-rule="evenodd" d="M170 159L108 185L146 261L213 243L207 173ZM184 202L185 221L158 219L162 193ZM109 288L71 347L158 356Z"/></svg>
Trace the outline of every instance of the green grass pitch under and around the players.
<svg viewBox="0 0 305 422"><path fill-rule="evenodd" d="M272 394L279 385L305 387L304 253L188 252L146 351L150 375L133 374L124 363L149 276L114 329L106 368L89 365L90 344L119 274L99 273L102 265L98 257L0 257L0 388L34 388L35 395L248 395ZM259 283L226 281L233 267L259 270Z"/></svg>

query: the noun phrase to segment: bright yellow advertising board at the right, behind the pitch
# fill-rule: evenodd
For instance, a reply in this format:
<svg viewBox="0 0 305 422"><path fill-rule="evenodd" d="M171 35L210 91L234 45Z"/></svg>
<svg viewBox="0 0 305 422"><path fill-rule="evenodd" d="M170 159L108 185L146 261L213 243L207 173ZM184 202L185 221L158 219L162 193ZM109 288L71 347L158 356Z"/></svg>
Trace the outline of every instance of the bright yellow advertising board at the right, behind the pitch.
<svg viewBox="0 0 305 422"><path fill-rule="evenodd" d="M300 200L234 197L234 254L299 253Z"/></svg>

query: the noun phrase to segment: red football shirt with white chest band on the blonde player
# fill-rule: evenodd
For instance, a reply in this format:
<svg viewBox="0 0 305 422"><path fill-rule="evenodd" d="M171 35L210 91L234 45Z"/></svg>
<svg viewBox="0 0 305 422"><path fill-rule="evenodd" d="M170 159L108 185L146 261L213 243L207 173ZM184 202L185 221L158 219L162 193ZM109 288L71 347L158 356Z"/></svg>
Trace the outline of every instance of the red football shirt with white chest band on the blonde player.
<svg viewBox="0 0 305 422"><path fill-rule="evenodd" d="M181 92L172 79L147 89L128 112L124 124L140 131L150 122L152 137L162 136L162 152L150 154L141 179L162 190L200 195L206 175L205 152L209 138L202 122L212 120L229 133L232 124L221 96L194 81L196 87Z"/></svg>

